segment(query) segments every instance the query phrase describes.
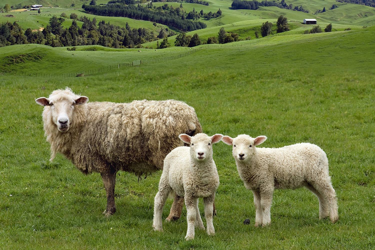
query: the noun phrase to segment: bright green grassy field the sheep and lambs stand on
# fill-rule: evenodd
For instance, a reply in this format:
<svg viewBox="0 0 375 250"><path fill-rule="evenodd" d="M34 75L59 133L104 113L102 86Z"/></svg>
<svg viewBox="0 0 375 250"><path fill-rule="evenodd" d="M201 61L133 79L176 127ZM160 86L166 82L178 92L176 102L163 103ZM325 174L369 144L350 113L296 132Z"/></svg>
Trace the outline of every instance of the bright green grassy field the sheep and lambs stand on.
<svg viewBox="0 0 375 250"><path fill-rule="evenodd" d="M83 78L0 75L1 248L374 249L375 69L369 67L375 64L374 31L370 27L295 36L306 37L300 40L277 36L256 46L204 49L164 63ZM0 48L0 56L33 49L8 46ZM171 53L171 48L69 51L77 56L68 59L65 48L37 49L46 56L13 69L78 68L83 63L111 63L120 54L130 58L133 53ZM252 193L237 174L231 148L221 142L214 146L220 176L215 236L196 231L194 240L184 241L185 209L177 222L163 223L163 233L152 231L161 172L139 182L121 172L117 212L107 219L101 214L106 199L98 174L84 176L60 155L48 163L42 108L34 99L65 86L91 101L183 100L195 108L210 135L266 135L263 147L317 144L330 162L340 219L335 224L319 220L318 200L305 189L277 190L272 224L255 228ZM170 206L171 200L163 218ZM203 211L202 204L200 208ZM245 219L251 224L243 225Z"/></svg>

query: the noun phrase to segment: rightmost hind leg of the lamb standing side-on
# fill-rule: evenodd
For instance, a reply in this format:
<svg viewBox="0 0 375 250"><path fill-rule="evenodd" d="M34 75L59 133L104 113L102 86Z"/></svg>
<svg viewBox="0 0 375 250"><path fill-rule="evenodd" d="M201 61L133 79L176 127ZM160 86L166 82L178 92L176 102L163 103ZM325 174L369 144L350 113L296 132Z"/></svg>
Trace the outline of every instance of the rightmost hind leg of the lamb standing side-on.
<svg viewBox="0 0 375 250"><path fill-rule="evenodd" d="M333 189L330 178L313 184L314 188L327 200L329 218L332 223L339 219L336 191Z"/></svg>

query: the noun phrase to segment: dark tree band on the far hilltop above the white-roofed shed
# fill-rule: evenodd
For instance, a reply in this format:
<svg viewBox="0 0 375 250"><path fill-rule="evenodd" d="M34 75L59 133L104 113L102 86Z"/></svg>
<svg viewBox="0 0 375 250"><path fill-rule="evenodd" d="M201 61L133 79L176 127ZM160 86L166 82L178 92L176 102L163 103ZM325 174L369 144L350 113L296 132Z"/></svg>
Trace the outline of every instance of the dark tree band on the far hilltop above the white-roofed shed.
<svg viewBox="0 0 375 250"><path fill-rule="evenodd" d="M248 1L248 0L234 0L232 3L232 8L233 9L252 9L256 10L260 7L266 7L266 6L276 6L281 9L290 9L290 10L297 10L297 11L302 11L309 13L308 10L303 9L302 5L301 6L294 6L293 4L287 4L285 3L285 0L281 0L281 3L278 3L276 1Z"/></svg>

